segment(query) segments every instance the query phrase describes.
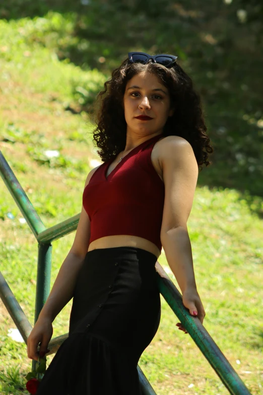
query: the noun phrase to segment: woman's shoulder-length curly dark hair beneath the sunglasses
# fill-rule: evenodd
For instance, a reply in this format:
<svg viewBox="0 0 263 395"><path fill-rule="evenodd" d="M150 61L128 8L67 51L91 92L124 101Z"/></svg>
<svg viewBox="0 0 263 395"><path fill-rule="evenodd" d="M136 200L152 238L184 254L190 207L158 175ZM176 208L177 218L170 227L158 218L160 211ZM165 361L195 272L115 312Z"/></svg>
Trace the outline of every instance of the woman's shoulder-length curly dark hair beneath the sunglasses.
<svg viewBox="0 0 263 395"><path fill-rule="evenodd" d="M113 70L111 79L104 83L104 90L98 93L91 107L91 120L97 127L93 131L93 141L100 149L98 155L103 162L115 157L124 150L127 124L124 117L123 95L127 82L136 74L147 71L156 75L169 90L171 106L176 111L168 117L163 128L163 136L180 136L187 140L193 149L200 170L202 164L211 164L208 153L214 151L206 134L201 98L193 89L191 78L177 62L171 68L158 63L129 63L125 59ZM205 149L205 151L204 151Z"/></svg>

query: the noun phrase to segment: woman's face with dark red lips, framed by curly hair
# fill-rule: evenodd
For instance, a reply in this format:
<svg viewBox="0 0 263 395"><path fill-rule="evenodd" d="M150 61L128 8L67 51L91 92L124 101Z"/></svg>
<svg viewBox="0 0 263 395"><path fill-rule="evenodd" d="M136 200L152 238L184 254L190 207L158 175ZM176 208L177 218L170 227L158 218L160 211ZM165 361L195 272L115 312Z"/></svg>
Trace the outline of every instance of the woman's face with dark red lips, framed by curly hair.
<svg viewBox="0 0 263 395"><path fill-rule="evenodd" d="M147 72L137 74L127 82L123 103L127 134L162 133L167 118L174 112L174 108L170 108L168 89L155 75ZM135 118L140 115L152 119L143 121Z"/></svg>

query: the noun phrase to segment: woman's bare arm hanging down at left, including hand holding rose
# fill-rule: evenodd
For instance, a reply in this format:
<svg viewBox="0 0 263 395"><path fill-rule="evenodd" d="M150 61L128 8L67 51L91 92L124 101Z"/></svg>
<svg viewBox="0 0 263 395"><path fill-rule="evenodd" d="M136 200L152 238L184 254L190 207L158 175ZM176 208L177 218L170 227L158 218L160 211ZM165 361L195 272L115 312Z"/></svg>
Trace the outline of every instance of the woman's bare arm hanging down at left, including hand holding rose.
<svg viewBox="0 0 263 395"><path fill-rule="evenodd" d="M93 168L87 176L85 186L88 185L93 173L98 168ZM38 360L37 346L41 342L40 352L45 352L52 337L52 322L63 307L73 298L74 288L78 273L88 252L90 239L90 220L83 205L73 245L64 259L52 290L39 313L27 340L28 357Z"/></svg>

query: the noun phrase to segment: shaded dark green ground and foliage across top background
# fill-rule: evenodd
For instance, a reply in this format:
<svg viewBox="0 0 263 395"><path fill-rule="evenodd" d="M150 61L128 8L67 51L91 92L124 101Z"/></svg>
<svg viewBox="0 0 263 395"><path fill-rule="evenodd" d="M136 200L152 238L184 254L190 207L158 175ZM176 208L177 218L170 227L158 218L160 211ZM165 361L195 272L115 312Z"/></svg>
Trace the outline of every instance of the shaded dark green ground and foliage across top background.
<svg viewBox="0 0 263 395"><path fill-rule="evenodd" d="M178 56L201 93L215 153L204 184L262 196L262 5L231 0L4 0L0 16L21 19L30 45L55 51L59 60L109 75L130 50ZM33 18L33 19L30 19ZM226 22L228 21L228 22ZM16 22L10 21L15 24ZM14 25L15 27L15 25ZM73 83L77 111L101 84ZM262 213L258 213L262 214Z"/></svg>

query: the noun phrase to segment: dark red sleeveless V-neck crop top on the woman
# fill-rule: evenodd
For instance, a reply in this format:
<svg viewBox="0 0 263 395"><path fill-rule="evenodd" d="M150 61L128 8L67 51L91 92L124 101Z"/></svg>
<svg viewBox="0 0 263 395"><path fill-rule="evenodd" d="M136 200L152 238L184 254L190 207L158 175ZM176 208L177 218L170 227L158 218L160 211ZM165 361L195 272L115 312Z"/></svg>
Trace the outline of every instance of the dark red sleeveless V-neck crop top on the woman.
<svg viewBox="0 0 263 395"><path fill-rule="evenodd" d="M102 163L83 192L83 207L91 222L89 243L105 236L142 237L162 249L160 233L164 183L151 160L154 136L129 151L106 178L113 159Z"/></svg>

